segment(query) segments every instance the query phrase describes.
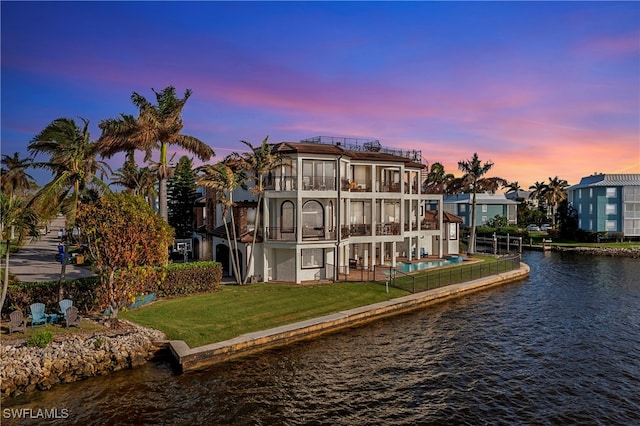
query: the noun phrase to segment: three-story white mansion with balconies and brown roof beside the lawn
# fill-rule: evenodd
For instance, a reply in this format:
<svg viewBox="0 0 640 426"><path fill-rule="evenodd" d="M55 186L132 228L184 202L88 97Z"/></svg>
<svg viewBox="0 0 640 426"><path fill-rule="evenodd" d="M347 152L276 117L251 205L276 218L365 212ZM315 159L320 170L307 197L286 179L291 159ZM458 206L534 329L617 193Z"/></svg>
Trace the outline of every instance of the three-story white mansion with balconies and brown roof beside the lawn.
<svg viewBox="0 0 640 426"><path fill-rule="evenodd" d="M250 191L234 192L234 200L241 200L234 219L243 276L340 280L353 269L395 266L398 258L458 254L461 219L445 214L442 195L421 192L426 165L419 151L333 137L281 142L273 150L283 162L265 180L249 270L257 203ZM225 262L230 248L222 225L217 222L212 252Z"/></svg>

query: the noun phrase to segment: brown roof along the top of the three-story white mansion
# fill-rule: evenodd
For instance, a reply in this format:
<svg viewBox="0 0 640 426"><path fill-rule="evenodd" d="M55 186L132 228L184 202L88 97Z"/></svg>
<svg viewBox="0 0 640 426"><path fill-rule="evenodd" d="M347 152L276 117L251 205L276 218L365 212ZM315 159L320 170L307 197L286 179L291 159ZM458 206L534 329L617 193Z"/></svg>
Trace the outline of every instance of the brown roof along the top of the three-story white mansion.
<svg viewBox="0 0 640 426"><path fill-rule="evenodd" d="M320 154L346 156L352 160L364 160L371 162L404 163L407 167L426 168L421 163L416 163L407 157L376 151L351 151L339 145L326 145L312 142L280 142L273 146L273 151L280 154Z"/></svg>

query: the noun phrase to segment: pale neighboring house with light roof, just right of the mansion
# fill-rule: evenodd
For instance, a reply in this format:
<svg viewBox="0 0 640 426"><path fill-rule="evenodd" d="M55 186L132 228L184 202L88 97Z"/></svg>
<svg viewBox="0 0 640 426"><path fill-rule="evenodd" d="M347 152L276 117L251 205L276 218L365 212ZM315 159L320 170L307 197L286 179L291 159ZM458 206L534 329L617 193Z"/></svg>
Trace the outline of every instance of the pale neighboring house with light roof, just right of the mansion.
<svg viewBox="0 0 640 426"><path fill-rule="evenodd" d="M460 216L464 226L471 226L473 194L447 196L444 199L445 211ZM518 224L518 204L504 194L476 194L476 226L486 225L496 216L504 216L509 224Z"/></svg>

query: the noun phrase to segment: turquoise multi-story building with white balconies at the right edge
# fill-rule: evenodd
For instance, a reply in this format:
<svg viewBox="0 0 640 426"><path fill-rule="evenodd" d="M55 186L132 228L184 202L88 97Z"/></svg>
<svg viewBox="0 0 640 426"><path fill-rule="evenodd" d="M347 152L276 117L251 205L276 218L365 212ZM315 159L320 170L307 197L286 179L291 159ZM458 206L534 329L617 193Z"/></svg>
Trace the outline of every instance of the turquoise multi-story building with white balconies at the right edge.
<svg viewBox="0 0 640 426"><path fill-rule="evenodd" d="M567 188L578 228L640 237L640 174L598 174Z"/></svg>

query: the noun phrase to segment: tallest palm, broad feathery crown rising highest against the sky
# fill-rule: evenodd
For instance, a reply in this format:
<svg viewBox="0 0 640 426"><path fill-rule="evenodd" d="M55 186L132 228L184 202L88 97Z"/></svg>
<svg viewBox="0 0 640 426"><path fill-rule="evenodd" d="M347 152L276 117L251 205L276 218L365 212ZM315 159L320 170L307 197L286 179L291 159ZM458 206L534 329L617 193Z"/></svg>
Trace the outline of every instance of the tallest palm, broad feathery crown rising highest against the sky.
<svg viewBox="0 0 640 426"><path fill-rule="evenodd" d="M105 157L130 149L142 150L145 152L145 161L151 159L154 149L160 150L160 160L157 163L160 216L168 221L167 179L172 175L171 166L167 161L168 146L177 145L203 161L209 160L215 154L200 139L180 133L184 127L182 109L191 96L191 90L187 89L182 99L176 97L176 89L172 86L160 92L153 90L153 93L156 95L157 105L151 104L136 92L131 95L131 101L139 110L137 118L121 114L119 118L103 120L100 123L100 149Z"/></svg>

